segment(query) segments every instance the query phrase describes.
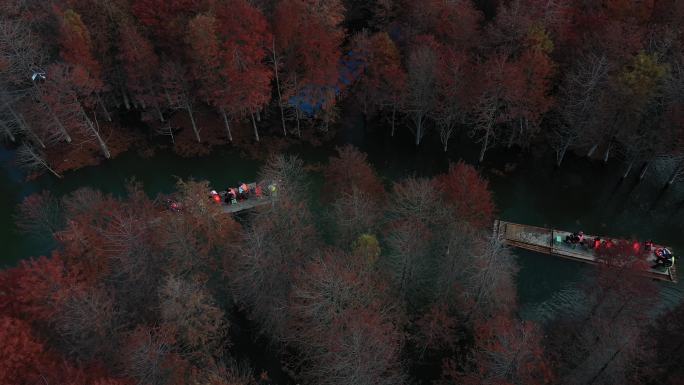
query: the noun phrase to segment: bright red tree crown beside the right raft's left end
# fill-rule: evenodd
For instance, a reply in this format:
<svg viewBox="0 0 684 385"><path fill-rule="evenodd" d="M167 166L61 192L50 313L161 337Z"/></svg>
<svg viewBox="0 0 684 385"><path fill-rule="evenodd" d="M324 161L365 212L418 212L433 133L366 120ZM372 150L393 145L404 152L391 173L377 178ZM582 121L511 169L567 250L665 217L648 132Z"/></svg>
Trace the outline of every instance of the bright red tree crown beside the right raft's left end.
<svg viewBox="0 0 684 385"><path fill-rule="evenodd" d="M494 220L494 199L488 182L474 167L458 162L449 166L449 172L435 178L443 194L460 220L479 228L488 228Z"/></svg>

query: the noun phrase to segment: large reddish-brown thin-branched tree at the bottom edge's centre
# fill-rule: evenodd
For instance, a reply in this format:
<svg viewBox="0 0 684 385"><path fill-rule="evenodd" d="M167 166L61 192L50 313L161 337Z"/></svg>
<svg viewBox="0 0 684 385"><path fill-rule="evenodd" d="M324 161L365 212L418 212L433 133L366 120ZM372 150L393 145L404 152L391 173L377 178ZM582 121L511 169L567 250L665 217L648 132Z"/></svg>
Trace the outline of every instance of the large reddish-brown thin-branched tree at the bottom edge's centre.
<svg viewBox="0 0 684 385"><path fill-rule="evenodd" d="M396 384L403 336L387 287L363 261L329 254L307 265L291 296L306 378L321 384Z"/></svg>

